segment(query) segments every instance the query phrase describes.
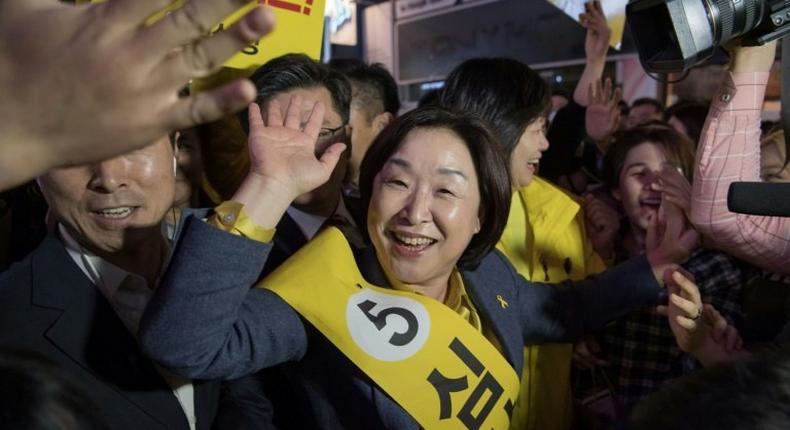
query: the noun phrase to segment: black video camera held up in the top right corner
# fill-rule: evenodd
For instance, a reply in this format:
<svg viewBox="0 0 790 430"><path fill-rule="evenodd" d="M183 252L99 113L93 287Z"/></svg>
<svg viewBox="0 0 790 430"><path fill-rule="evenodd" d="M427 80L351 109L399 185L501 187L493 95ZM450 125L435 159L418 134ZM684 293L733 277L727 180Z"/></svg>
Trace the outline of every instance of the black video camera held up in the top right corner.
<svg viewBox="0 0 790 430"><path fill-rule="evenodd" d="M762 45L790 33L790 0L632 0L626 19L645 70L682 72L730 39Z"/></svg>

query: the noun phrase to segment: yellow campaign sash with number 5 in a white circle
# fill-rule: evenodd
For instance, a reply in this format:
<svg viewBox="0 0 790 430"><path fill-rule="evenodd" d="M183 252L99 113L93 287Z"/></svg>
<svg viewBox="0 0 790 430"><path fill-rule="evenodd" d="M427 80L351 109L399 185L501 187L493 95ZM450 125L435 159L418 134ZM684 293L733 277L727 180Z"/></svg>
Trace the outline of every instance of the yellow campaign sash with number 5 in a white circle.
<svg viewBox="0 0 790 430"><path fill-rule="evenodd" d="M426 430L507 429L519 378L471 324L420 294L365 281L328 228L263 282Z"/></svg>

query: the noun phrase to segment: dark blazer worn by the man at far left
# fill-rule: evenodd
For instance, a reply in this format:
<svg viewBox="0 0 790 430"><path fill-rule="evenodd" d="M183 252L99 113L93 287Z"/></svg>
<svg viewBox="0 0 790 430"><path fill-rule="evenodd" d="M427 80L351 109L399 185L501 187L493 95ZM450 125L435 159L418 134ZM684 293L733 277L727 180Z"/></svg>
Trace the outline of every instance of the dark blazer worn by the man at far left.
<svg viewBox="0 0 790 430"><path fill-rule="evenodd" d="M0 275L0 345L61 365L113 430L189 429L170 387L54 235ZM208 430L220 384L193 384L197 428Z"/></svg>

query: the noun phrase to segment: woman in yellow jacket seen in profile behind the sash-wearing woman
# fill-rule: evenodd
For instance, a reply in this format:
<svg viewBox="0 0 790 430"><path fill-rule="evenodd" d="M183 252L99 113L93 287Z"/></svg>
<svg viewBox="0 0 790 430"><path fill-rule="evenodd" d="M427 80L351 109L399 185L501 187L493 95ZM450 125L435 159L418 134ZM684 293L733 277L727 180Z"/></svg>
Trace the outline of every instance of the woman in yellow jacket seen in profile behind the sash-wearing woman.
<svg viewBox="0 0 790 430"><path fill-rule="evenodd" d="M440 103L483 117L508 153L514 192L497 247L519 274L531 281L553 283L603 271L606 266L588 236L583 202L534 176L548 148L550 89L540 75L512 59L468 60L448 76ZM616 233L617 216L610 218L596 234ZM521 393L511 428L569 428L572 346L532 346L524 354Z"/></svg>

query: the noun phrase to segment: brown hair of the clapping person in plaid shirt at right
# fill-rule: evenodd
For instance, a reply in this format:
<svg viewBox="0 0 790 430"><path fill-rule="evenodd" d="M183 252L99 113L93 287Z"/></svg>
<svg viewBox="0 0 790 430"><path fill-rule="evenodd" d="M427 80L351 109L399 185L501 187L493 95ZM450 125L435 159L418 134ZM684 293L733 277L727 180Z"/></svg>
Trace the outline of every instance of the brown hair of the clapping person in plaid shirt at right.
<svg viewBox="0 0 790 430"><path fill-rule="evenodd" d="M679 167L683 176L692 180L694 168L694 143L677 130L661 121L651 121L634 128L624 130L614 137L614 142L606 151L603 159L602 175L609 189L620 185L620 173L623 171L628 153L643 143L653 143L664 149L668 161Z"/></svg>

